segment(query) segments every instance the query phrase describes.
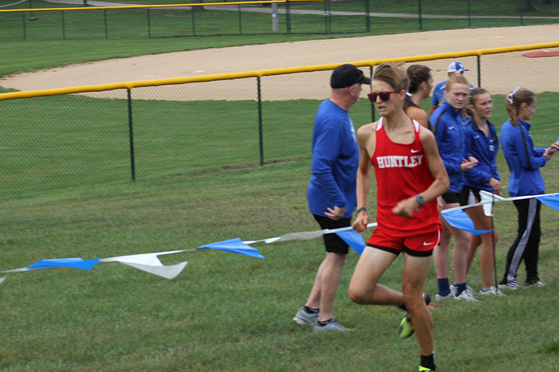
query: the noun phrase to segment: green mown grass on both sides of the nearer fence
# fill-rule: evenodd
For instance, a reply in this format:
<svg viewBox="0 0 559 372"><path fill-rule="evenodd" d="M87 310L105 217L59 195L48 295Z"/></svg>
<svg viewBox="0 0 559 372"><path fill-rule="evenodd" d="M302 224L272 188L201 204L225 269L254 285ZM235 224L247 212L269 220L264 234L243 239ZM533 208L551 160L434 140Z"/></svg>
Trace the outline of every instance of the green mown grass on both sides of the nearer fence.
<svg viewBox="0 0 559 372"><path fill-rule="evenodd" d="M17 27L20 20L14 21ZM103 20L91 19L69 28L68 35L85 30L70 40L60 40L61 34L47 34L47 40L13 38L20 31L6 31L1 22L0 76L140 54L350 36L102 40L97 38L104 37L99 22ZM412 23L379 19L375 33L416 30L416 21L405 22ZM95 39L87 38L87 29ZM0 93L5 91L0 87ZM493 119L500 127L503 97L493 98ZM559 134L554 112L558 98L556 93L538 95L531 121L537 146L550 144ZM258 133L252 124L256 103L134 101L138 178L132 182L124 100L68 96L0 102L0 270L45 258L107 258L317 230L305 193L318 104L265 103L265 161L282 162L224 169L259 162L254 144ZM185 128L181 118L194 105L205 109L196 121L221 124L225 117L234 119L234 126L224 127L224 133ZM99 110L110 114L99 116ZM181 116L173 118L169 112ZM361 100L351 116L356 126L367 123L370 106ZM296 125L303 121L306 126ZM159 125L148 125L152 123ZM231 145L231 133L242 147ZM208 149L208 144L223 152ZM231 162L211 163L219 161L215 156ZM287 161L293 158L299 160ZM498 166L506 185L502 154ZM542 169L549 193L559 192L558 168L558 159L553 159ZM374 206L370 195L368 207ZM556 371L558 219L556 210L542 207L539 269L547 288L518 290L475 304L444 302L432 312L439 371ZM497 204L495 225L501 275L516 237L513 204ZM266 260L212 250L162 256L166 265L189 261L172 281L117 263L99 264L91 271L0 274L6 276L0 284L0 371L416 371L416 341L397 335L400 311L358 306L347 297L356 253L349 255L335 302L335 315L354 332L313 334L291 318L305 303L324 257L321 239L254 247ZM401 273L399 258L382 283L400 288ZM519 282L524 275L521 266ZM468 283L476 290L481 285L477 260ZM433 267L426 290L436 291Z"/></svg>

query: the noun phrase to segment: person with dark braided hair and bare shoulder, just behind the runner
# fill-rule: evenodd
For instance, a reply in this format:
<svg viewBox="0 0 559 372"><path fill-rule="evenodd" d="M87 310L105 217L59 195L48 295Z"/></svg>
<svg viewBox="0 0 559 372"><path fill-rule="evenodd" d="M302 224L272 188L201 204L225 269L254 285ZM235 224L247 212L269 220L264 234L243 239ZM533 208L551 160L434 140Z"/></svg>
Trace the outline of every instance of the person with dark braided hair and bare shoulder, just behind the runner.
<svg viewBox="0 0 559 372"><path fill-rule="evenodd" d="M412 65L407 68L409 77L409 91L404 102L407 116L415 119L425 128L428 127L429 117L421 108L421 101L431 94L433 89L433 74L431 69L423 65Z"/></svg>

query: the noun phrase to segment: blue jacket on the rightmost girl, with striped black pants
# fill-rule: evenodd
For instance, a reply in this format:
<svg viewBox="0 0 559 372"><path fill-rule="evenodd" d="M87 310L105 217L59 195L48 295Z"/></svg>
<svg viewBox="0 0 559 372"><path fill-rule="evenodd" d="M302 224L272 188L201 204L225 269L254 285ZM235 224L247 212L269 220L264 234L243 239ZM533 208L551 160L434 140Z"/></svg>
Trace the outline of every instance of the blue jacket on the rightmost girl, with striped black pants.
<svg viewBox="0 0 559 372"><path fill-rule="evenodd" d="M539 168L547 163L545 149L535 149L530 124L516 119L518 125L513 126L507 120L501 127L501 146L504 158L507 159L511 175L509 177L509 195L524 196L545 193L546 186Z"/></svg>

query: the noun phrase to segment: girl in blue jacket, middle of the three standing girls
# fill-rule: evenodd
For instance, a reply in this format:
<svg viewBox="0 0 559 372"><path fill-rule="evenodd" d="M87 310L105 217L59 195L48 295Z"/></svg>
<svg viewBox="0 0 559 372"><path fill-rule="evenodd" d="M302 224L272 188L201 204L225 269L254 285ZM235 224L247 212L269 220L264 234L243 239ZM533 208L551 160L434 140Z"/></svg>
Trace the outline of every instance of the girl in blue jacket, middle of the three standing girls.
<svg viewBox="0 0 559 372"><path fill-rule="evenodd" d="M501 182L497 172L495 156L499 150L497 131L489 121L493 111L493 101L488 91L475 88L470 91L467 110L471 116L467 118L465 132L465 148L467 156L477 158L477 165L464 173L464 187L460 192L460 205L474 204L481 201L479 191L484 190L502 196ZM465 212L474 222L476 230L491 230L491 217L484 214L484 207L470 207ZM493 237L491 236L493 234ZM502 295L502 292L492 285L493 276L493 244L497 243L497 232L486 232L472 235L467 248L467 269L469 270L477 247L481 244L479 266L483 288L481 295Z"/></svg>

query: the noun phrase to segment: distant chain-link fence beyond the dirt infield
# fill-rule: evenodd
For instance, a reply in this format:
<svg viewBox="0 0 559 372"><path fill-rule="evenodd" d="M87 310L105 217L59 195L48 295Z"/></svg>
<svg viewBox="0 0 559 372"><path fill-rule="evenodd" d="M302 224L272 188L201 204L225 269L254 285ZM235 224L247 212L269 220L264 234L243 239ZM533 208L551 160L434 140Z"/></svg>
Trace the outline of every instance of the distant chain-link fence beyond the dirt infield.
<svg viewBox="0 0 559 372"><path fill-rule="evenodd" d="M6 1L6 0L0 0ZM64 1L64 0L61 0ZM85 2L87 2L85 0ZM533 2L533 1L532 1ZM0 7L0 40L336 34L559 23L528 0L273 0L142 6ZM21 7L20 2L13 6ZM31 4L31 0L29 0ZM530 8L531 7L531 8Z"/></svg>

